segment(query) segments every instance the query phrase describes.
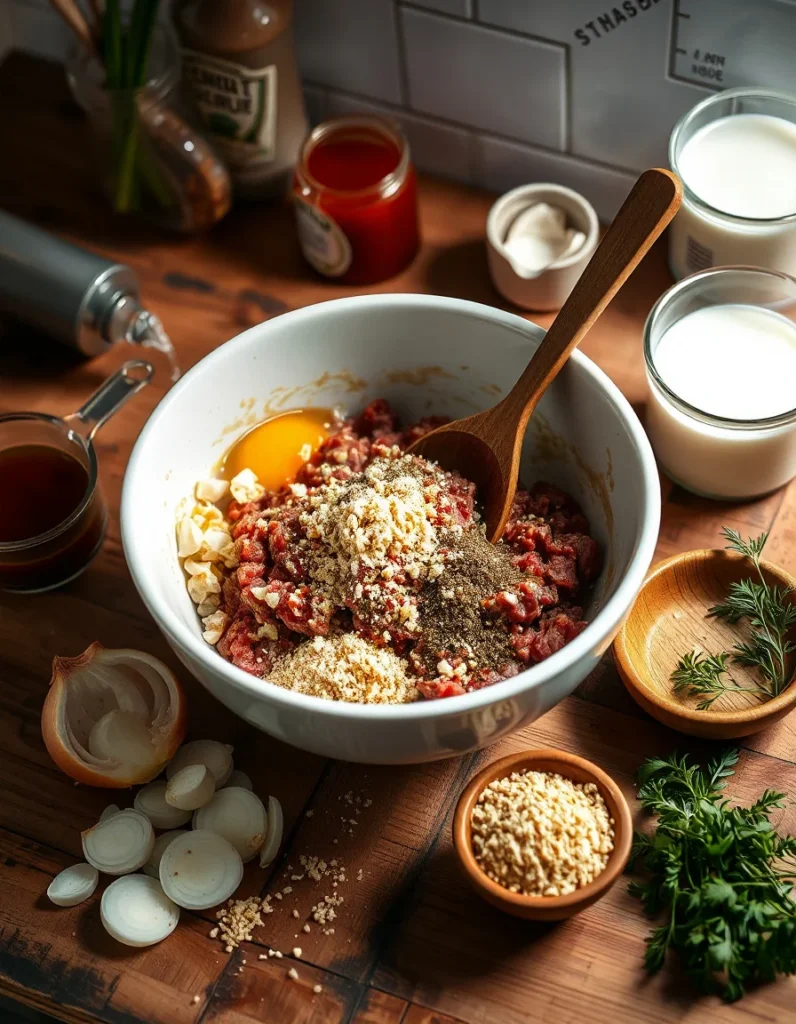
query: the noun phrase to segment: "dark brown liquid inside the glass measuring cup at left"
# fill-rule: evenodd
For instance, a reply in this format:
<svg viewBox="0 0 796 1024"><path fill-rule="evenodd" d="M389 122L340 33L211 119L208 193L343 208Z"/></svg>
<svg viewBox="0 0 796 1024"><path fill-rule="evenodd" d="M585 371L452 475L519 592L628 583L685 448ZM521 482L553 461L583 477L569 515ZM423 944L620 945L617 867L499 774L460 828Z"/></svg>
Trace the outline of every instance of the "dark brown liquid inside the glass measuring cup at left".
<svg viewBox="0 0 796 1024"><path fill-rule="evenodd" d="M0 543L27 541L68 519L88 487L85 467L48 444L0 451Z"/></svg>

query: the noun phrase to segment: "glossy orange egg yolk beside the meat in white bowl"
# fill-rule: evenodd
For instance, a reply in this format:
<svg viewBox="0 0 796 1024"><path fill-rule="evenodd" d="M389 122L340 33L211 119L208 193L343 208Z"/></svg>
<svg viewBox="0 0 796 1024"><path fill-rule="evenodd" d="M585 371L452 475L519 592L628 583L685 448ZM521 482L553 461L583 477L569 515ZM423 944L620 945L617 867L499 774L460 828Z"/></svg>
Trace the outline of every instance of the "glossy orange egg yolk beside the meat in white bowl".
<svg viewBox="0 0 796 1024"><path fill-rule="evenodd" d="M295 478L309 455L331 431L328 409L293 409L258 423L226 453L222 475L232 479L250 469L268 490Z"/></svg>

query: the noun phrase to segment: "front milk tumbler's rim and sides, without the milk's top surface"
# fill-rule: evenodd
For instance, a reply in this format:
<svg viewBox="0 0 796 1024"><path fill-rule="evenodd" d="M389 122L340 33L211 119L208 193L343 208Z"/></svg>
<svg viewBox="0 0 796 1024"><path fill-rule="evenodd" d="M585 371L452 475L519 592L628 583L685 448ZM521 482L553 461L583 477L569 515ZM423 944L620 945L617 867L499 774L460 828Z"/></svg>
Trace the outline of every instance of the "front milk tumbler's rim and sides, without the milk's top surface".
<svg viewBox="0 0 796 1024"><path fill-rule="evenodd" d="M794 408L767 419L712 416L676 394L656 366L658 345L673 324L707 306L744 305L770 310L794 324L796 280L773 270L728 266L692 274L658 300L644 326L650 400L646 432L661 469L695 494L749 499L783 486L796 475ZM749 352L749 359L756 357Z"/></svg>

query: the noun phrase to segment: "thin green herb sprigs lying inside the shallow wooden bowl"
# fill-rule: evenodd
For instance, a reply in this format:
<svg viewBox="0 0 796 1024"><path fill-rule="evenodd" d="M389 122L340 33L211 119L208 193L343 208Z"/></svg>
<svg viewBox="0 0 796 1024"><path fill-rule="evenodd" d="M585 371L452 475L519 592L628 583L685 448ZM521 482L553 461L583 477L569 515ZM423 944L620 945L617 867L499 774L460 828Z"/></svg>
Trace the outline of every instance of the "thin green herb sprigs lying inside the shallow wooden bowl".
<svg viewBox="0 0 796 1024"><path fill-rule="evenodd" d="M791 681L789 656L796 650L796 643L788 638L789 631L796 626L796 604L790 600L791 591L768 584L760 568L760 555L768 534L747 541L727 526L722 534L729 542L726 545L729 550L750 559L758 580L748 578L730 584L726 601L713 605L708 614L730 625L746 620L751 634L748 640L734 644L730 651L705 654L693 650L680 658L671 675L674 692L701 696L698 711L708 711L716 700L730 693L749 693L761 700L776 697ZM729 671L730 663L756 669L762 677L760 682L742 686Z"/></svg>

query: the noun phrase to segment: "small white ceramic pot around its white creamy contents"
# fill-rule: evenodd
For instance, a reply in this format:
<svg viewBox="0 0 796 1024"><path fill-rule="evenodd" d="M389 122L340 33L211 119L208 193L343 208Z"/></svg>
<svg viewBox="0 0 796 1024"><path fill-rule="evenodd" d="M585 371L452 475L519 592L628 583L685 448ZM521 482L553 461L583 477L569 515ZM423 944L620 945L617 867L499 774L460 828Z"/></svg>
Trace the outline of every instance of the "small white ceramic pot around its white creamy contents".
<svg viewBox="0 0 796 1024"><path fill-rule="evenodd" d="M521 267L505 246L511 224L534 203L557 206L567 214L570 225L586 236L580 249L538 273ZM597 214L580 193L549 183L519 185L496 200L487 217L487 258L492 283L505 299L521 309L560 309L598 241Z"/></svg>

